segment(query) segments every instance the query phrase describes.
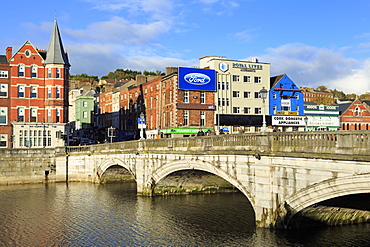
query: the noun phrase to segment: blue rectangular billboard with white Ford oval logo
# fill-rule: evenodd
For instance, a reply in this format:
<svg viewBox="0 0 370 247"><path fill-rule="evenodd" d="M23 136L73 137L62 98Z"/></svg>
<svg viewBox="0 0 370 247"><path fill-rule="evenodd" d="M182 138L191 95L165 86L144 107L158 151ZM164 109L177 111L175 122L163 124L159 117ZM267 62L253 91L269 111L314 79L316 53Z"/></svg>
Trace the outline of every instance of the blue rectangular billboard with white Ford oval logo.
<svg viewBox="0 0 370 247"><path fill-rule="evenodd" d="M216 91L216 71L211 69L179 68L179 89Z"/></svg>

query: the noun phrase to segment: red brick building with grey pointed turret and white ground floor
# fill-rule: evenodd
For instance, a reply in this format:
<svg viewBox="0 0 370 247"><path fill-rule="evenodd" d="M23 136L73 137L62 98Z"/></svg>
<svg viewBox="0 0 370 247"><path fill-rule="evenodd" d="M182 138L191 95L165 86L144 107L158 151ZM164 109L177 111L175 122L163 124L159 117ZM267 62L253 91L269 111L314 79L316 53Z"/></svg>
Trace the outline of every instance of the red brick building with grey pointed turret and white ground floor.
<svg viewBox="0 0 370 247"><path fill-rule="evenodd" d="M64 145L67 133L69 61L64 52L57 22L54 22L48 51L27 41L15 54L6 53L11 71L9 119L13 147Z"/></svg>

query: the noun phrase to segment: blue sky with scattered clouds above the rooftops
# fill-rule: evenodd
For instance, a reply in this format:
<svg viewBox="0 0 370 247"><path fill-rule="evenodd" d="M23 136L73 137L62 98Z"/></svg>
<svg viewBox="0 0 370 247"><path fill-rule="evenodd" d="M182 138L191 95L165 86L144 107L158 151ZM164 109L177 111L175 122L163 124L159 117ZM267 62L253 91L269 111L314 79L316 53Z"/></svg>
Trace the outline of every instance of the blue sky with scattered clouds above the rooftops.
<svg viewBox="0 0 370 247"><path fill-rule="evenodd" d="M47 49L56 17L72 74L257 57L297 86L370 91L368 0L17 0L2 9L1 54L27 40Z"/></svg>

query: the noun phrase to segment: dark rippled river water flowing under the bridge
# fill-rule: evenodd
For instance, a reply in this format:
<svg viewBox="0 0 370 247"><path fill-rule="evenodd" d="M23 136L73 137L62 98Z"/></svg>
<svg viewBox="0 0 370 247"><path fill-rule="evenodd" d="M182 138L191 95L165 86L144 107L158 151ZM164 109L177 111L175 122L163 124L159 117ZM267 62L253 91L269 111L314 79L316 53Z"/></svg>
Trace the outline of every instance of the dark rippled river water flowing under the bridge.
<svg viewBox="0 0 370 247"><path fill-rule="evenodd" d="M136 196L135 184L0 186L0 246L369 246L370 224L254 226L241 193Z"/></svg>

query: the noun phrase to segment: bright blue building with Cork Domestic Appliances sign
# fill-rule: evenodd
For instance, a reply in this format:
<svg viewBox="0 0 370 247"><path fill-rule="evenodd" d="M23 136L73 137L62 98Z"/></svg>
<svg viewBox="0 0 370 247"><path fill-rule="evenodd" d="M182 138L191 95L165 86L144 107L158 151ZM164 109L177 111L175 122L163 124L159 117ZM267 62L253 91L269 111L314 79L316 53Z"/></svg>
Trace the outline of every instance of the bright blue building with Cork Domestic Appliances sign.
<svg viewBox="0 0 370 247"><path fill-rule="evenodd" d="M303 93L286 75L270 78L269 113L274 129L294 131L304 129Z"/></svg>

